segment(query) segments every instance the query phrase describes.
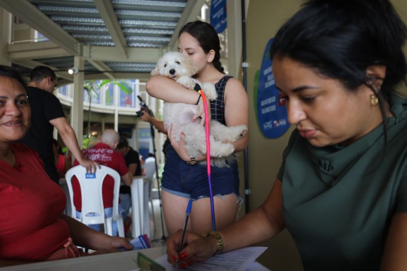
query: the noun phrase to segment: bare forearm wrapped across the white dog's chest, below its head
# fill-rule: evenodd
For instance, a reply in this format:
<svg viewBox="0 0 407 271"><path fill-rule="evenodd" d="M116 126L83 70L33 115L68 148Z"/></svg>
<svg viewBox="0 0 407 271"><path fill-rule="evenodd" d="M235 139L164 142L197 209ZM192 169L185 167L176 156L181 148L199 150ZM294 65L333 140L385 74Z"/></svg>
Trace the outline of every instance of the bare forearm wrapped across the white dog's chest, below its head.
<svg viewBox="0 0 407 271"><path fill-rule="evenodd" d="M161 75L150 77L146 91L150 96L170 103L195 104L199 97L196 91Z"/></svg>

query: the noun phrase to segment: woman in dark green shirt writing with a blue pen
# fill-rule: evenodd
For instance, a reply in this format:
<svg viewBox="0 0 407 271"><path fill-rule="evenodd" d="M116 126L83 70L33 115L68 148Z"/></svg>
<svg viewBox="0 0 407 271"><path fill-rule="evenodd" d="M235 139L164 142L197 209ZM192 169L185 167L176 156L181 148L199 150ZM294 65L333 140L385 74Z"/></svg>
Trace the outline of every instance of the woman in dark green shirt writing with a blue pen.
<svg viewBox="0 0 407 271"><path fill-rule="evenodd" d="M277 33L276 86L297 129L266 201L220 232L167 241L188 265L285 227L305 269L407 266L405 25L388 0L311 0Z"/></svg>

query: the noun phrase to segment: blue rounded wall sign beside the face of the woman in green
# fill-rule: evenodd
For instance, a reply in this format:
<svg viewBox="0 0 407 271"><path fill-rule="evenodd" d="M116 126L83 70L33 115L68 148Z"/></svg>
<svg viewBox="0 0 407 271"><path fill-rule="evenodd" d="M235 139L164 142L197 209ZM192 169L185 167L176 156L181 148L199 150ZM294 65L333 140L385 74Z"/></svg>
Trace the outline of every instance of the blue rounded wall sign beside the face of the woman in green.
<svg viewBox="0 0 407 271"><path fill-rule="evenodd" d="M279 94L272 71L270 47L273 38L267 43L261 68L255 78L254 101L257 123L266 138L278 138L289 128L285 100ZM257 81L258 78L258 81Z"/></svg>

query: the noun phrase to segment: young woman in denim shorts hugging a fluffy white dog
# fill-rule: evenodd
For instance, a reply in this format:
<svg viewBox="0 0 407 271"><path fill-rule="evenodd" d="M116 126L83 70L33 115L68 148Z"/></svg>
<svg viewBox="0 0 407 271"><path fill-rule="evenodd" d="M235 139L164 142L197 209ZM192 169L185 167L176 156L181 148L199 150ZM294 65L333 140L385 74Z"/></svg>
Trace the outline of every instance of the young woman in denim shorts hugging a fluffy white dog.
<svg viewBox="0 0 407 271"><path fill-rule="evenodd" d="M198 67L196 79L215 84L218 98L211 102L212 119L226 126L248 126L248 98L243 85L235 78L226 76L220 64L219 37L212 25L194 21L187 23L180 32L180 52L189 57ZM177 82L163 76L152 76L146 85L147 92L166 102L196 104L199 94L186 89ZM202 99L199 99L202 107ZM200 115L196 114L191 121ZM203 123L203 119L201 121ZM202 232L212 228L210 192L206 165L191 161L204 161L205 156L191 158L180 142L168 131L171 145L167 148L166 163L162 178L162 204L165 224L169 234L184 226L185 210L189 198L194 199L188 229ZM236 142L235 152L247 147L248 135ZM212 167L216 227L218 229L236 220L239 203L239 174L237 161L228 167Z"/></svg>

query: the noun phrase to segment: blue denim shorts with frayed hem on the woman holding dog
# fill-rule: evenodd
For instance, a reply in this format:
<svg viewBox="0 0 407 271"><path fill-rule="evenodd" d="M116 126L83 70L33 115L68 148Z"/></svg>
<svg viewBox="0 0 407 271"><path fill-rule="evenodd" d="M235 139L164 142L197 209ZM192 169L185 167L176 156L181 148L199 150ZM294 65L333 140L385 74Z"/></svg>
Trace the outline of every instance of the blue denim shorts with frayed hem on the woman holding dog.
<svg viewBox="0 0 407 271"><path fill-rule="evenodd" d="M229 167L211 167L212 193L223 196L231 193L239 196L239 172L237 161ZM167 147L161 187L173 195L199 199L210 197L207 166L188 165L172 148ZM240 198L240 197L239 197Z"/></svg>

